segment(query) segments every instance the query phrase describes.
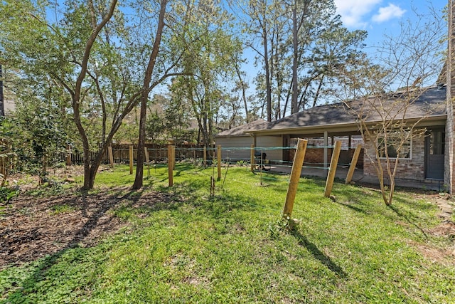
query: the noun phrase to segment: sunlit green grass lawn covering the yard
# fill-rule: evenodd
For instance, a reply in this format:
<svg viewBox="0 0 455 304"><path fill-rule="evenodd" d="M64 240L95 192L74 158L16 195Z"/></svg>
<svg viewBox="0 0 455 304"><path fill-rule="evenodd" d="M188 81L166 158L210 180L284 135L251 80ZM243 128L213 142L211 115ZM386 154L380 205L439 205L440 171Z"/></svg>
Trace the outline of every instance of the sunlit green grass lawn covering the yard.
<svg viewBox="0 0 455 304"><path fill-rule="evenodd" d="M130 185L128 171L96 184ZM428 233L439 219L424 195L397 192L389 208L375 189L337 183L333 202L323 180L301 179L289 227L287 176L263 174L261 187L259 174L224 168L210 197L213 173L178 164L169 188L166 167L152 167L144 192L172 201L123 204L131 225L100 245L4 269L2 303L454 303L453 258L418 249L453 246Z"/></svg>

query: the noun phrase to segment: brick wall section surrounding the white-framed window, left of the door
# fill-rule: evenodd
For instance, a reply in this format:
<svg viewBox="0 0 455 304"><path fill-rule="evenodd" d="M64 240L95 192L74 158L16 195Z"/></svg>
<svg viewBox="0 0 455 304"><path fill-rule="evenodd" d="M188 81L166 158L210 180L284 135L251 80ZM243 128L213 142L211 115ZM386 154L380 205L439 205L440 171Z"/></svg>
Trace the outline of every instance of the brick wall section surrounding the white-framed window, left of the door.
<svg viewBox="0 0 455 304"><path fill-rule="evenodd" d="M376 171L370 159L375 159L375 150L373 143L365 142L365 156L363 159L363 175L376 177ZM395 166L395 159L390 159L392 162L391 169ZM424 162L425 162L425 138L423 135L415 135L412 138L412 159L399 159L397 179L414 179L418 181L424 180ZM387 167L385 159L381 159L384 176L387 177Z"/></svg>

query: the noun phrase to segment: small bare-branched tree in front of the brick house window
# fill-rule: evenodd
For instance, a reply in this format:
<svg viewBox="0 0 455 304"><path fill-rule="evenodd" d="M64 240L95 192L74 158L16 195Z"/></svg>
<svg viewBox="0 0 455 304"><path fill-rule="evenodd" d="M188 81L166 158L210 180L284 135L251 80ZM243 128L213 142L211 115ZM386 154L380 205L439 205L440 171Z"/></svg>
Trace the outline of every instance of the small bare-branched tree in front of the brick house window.
<svg viewBox="0 0 455 304"><path fill-rule="evenodd" d="M424 115L417 120L407 119L410 108L426 90L425 85L433 83L439 73L442 28L444 23L434 11L428 16L419 15L417 23L402 23L398 36L386 36L375 64L346 73L346 92L358 100L345 105L358 118L365 155L378 175L387 205L392 204L400 158L410 152L413 139L424 136L419 123L441 110L421 105ZM385 177L389 179L388 189Z"/></svg>

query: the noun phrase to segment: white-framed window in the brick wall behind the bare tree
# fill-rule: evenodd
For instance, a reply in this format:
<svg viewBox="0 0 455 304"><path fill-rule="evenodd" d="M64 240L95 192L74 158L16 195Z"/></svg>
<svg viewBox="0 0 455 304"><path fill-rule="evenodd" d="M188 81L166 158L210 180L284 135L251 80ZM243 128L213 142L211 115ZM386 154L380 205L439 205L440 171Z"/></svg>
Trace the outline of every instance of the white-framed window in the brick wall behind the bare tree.
<svg viewBox="0 0 455 304"><path fill-rule="evenodd" d="M385 145L385 135L378 136L379 157L385 158L385 149L389 158L411 159L412 155L412 136L410 131L396 131L387 133L387 145ZM400 149L400 152L398 150Z"/></svg>

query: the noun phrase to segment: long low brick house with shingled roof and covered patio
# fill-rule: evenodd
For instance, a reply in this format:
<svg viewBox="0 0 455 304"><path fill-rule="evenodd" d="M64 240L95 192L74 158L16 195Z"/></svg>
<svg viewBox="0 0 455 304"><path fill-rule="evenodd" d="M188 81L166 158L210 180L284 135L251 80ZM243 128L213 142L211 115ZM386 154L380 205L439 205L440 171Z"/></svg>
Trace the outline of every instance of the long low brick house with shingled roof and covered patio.
<svg viewBox="0 0 455 304"><path fill-rule="evenodd" d="M395 93L390 96L390 107L397 105L397 100L402 96ZM407 181L419 181L428 183L429 186L440 187L444 181L444 137L446 125L446 87L440 85L427 88L419 95L419 98L410 103L403 118L406 122L417 123L416 134L412 141L405 145L401 154L397 170L397 179ZM383 100L384 101L384 100ZM350 108L360 109L365 103L363 100L353 100L349 102ZM393 110L393 109L392 109ZM368 112L363 109L364 115ZM423 118L423 119L422 119ZM370 111L365 116L368 125L373 127L378 124L380 117L378 112ZM240 132L240 130L243 132ZM420 131L424 132L420 132ZM225 132L223 132L225 133ZM225 133L226 134L226 133ZM224 135L220 133L220 135ZM218 135L218 141L221 140ZM361 142L358 118L348 109L345 103L336 103L332 105L322 105L289 115L280 120L268 123L258 123L256 125L245 125L235 132L237 137L223 137L225 146L240 145L237 138L245 138L244 147L247 143L259 142L262 138L274 137L274 143L281 143L279 147L292 147L295 145L296 138L309 139L309 145L305 156L305 164L318 163L323 167L328 167L331 157L331 145L334 140L344 141L344 148L341 152L340 163L348 164L353 155L355 146ZM247 141L247 136L253 139ZM426 135L426 136L424 136ZM223 146L224 146L223 145ZM376 176L375 169L368 159L375 159L375 150L372 149L371 142L364 143L364 153L360 154L359 165L363 167L363 177L365 180L374 180ZM313 147L321 147L312 149ZM282 149L277 157L270 157L275 161L291 161L293 150ZM267 158L268 155L267 155Z"/></svg>

